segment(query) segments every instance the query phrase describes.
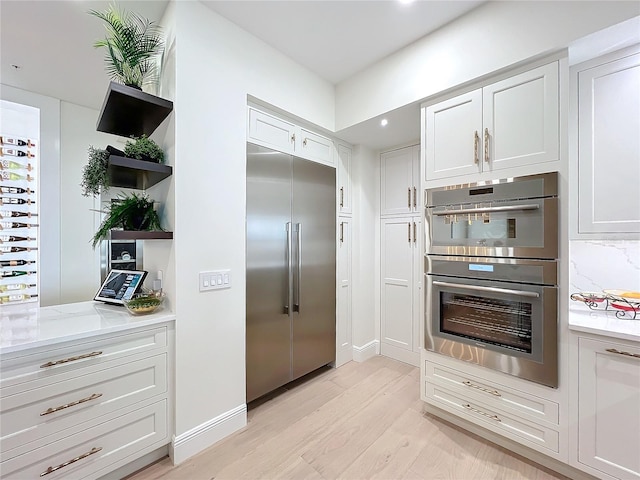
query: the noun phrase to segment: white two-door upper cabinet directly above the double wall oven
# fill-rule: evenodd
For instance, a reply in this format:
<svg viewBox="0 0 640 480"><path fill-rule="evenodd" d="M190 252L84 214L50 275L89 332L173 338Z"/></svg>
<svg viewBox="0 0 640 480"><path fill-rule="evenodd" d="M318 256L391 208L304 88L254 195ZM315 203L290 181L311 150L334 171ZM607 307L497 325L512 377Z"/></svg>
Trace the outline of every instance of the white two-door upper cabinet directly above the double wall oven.
<svg viewBox="0 0 640 480"><path fill-rule="evenodd" d="M424 108L424 180L559 159L558 62Z"/></svg>

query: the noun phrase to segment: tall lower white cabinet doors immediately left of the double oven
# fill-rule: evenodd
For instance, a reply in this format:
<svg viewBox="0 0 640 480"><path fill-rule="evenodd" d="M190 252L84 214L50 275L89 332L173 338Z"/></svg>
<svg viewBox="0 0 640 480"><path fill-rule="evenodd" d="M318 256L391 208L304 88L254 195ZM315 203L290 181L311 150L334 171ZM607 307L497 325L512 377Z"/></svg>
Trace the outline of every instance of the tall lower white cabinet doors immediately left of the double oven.
<svg viewBox="0 0 640 480"><path fill-rule="evenodd" d="M380 353L420 364L421 218L381 220Z"/></svg>

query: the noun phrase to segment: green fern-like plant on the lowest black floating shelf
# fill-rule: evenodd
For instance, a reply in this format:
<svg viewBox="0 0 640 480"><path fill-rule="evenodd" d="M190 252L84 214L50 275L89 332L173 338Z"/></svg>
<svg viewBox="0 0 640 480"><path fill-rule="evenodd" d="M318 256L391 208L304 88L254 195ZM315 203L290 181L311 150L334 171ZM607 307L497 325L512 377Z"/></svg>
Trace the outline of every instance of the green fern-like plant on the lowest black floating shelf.
<svg viewBox="0 0 640 480"><path fill-rule="evenodd" d="M120 194L104 211L105 219L93 236L93 248L109 236L115 228L138 231L163 231L153 200L145 194Z"/></svg>

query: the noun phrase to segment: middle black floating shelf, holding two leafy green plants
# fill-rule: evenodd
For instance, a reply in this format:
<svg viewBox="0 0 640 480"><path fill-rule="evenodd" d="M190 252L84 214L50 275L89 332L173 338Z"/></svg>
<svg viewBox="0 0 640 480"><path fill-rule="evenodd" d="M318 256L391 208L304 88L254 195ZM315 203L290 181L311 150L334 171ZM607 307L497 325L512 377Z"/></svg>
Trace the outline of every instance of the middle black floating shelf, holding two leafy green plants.
<svg viewBox="0 0 640 480"><path fill-rule="evenodd" d="M162 163L111 155L107 171L113 187L146 190L170 176L173 168Z"/></svg>

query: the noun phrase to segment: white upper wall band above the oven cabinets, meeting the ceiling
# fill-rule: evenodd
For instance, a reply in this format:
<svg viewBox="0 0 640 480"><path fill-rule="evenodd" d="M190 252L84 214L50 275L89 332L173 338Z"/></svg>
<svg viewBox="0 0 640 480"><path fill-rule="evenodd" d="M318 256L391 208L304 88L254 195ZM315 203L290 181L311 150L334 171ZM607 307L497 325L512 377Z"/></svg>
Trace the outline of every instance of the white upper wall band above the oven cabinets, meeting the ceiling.
<svg viewBox="0 0 640 480"><path fill-rule="evenodd" d="M640 2L633 1L489 2L337 85L337 130L638 14Z"/></svg>

